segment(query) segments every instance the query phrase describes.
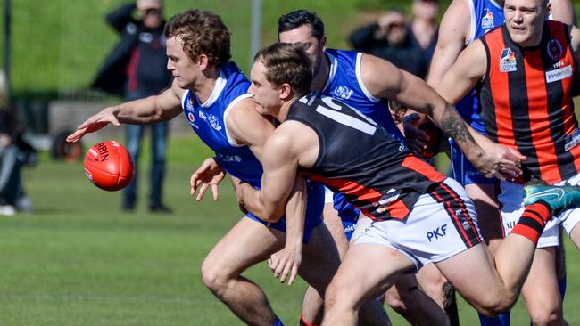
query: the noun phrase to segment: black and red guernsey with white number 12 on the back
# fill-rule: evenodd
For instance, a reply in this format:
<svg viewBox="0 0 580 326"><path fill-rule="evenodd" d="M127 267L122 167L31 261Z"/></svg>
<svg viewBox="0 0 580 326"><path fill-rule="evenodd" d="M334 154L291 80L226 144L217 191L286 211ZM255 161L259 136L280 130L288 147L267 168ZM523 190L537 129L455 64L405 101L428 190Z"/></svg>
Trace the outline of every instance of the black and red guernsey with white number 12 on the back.
<svg viewBox="0 0 580 326"><path fill-rule="evenodd" d="M302 174L343 193L374 220L404 220L418 197L445 179L373 120L332 97L308 94L294 102L286 120L319 136L316 163Z"/></svg>

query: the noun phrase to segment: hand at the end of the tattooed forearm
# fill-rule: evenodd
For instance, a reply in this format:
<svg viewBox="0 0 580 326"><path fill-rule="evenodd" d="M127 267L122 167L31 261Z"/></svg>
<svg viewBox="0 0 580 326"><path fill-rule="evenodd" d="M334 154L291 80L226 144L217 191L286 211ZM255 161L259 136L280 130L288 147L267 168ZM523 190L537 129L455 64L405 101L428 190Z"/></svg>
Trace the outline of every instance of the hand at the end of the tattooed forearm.
<svg viewBox="0 0 580 326"><path fill-rule="evenodd" d="M484 155L476 160L475 167L486 177L512 181L522 174L521 161L526 157L519 151L491 142L482 148Z"/></svg>

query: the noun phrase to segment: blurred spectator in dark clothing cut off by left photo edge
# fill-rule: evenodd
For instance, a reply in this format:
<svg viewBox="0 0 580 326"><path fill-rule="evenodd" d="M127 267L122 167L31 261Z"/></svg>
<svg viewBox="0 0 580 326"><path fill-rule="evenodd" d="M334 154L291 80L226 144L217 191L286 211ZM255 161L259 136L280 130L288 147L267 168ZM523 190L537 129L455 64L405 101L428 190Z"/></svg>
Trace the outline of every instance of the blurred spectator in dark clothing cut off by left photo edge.
<svg viewBox="0 0 580 326"><path fill-rule="evenodd" d="M21 131L9 105L4 72L0 72L0 215L4 216L32 211L21 182L21 167L36 161L36 151L22 140Z"/></svg>

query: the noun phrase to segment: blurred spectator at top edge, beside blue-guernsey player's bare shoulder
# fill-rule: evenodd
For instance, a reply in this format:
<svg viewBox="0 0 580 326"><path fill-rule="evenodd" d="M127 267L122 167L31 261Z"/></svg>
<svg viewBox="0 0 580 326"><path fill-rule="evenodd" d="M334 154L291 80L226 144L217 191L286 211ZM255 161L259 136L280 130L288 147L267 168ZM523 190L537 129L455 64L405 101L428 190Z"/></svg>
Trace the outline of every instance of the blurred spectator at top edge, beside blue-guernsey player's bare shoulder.
<svg viewBox="0 0 580 326"><path fill-rule="evenodd" d="M414 0L413 20L410 21L411 35L417 44L423 49L423 55L427 60L427 66L431 62L435 45L437 44L437 14L439 4L437 0Z"/></svg>

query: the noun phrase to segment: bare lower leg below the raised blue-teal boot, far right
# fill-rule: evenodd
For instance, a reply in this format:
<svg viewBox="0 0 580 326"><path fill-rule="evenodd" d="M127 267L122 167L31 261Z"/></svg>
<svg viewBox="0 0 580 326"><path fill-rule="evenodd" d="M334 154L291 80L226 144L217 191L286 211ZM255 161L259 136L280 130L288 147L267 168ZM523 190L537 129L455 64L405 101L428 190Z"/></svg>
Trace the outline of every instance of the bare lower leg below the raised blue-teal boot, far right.
<svg viewBox="0 0 580 326"><path fill-rule="evenodd" d="M564 325L556 278L555 248L536 249L522 297L533 325Z"/></svg>

